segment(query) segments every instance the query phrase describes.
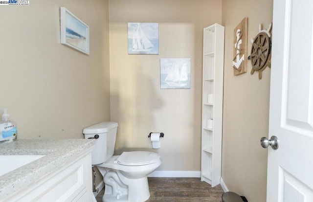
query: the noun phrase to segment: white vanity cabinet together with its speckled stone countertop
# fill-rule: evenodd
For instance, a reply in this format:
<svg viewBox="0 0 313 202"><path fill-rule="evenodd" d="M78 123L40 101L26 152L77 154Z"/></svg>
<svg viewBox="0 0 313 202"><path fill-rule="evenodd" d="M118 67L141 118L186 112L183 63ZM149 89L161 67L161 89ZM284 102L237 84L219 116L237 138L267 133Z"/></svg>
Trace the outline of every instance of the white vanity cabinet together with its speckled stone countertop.
<svg viewBox="0 0 313 202"><path fill-rule="evenodd" d="M92 202L91 152L85 139L18 140L0 155L44 155L0 176L0 202Z"/></svg>

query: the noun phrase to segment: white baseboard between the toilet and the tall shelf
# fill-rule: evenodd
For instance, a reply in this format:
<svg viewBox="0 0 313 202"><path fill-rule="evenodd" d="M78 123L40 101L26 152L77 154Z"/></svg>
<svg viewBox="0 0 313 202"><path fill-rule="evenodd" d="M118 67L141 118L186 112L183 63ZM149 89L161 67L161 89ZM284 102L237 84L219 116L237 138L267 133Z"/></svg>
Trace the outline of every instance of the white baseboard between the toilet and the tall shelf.
<svg viewBox="0 0 313 202"><path fill-rule="evenodd" d="M200 171L155 171L148 177L157 178L200 178Z"/></svg>

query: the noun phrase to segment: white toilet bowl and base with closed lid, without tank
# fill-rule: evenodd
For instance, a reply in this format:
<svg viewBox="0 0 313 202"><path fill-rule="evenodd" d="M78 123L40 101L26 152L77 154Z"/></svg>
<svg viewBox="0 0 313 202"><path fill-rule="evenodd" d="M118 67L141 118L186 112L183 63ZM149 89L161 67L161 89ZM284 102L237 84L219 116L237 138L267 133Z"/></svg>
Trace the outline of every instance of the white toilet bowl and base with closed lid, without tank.
<svg viewBox="0 0 313 202"><path fill-rule="evenodd" d="M133 156L134 158L137 156L137 158L135 161L127 161L127 165L124 165L125 162L120 161L121 159L126 159L124 156ZM153 157L151 161L147 162L143 156ZM160 164L160 156L156 153L124 152L121 156L113 156L108 161L96 165L101 174L103 174L106 184L102 200L104 202L147 201L150 198L147 176L156 170Z"/></svg>

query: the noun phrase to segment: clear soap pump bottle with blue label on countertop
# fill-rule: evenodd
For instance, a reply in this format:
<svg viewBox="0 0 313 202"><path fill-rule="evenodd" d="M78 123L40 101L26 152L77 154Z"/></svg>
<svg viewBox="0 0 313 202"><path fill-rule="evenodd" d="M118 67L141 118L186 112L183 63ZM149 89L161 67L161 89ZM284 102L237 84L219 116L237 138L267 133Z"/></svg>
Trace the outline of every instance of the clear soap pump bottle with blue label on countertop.
<svg viewBox="0 0 313 202"><path fill-rule="evenodd" d="M15 121L10 121L10 115L7 109L2 109L2 121L0 121L0 141L12 141L18 138L17 124Z"/></svg>

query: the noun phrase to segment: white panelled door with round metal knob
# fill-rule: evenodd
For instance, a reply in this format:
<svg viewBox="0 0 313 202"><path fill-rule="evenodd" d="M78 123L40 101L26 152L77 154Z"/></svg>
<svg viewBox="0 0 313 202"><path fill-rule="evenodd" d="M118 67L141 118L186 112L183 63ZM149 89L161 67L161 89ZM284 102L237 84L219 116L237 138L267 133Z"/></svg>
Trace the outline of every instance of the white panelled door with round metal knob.
<svg viewBox="0 0 313 202"><path fill-rule="evenodd" d="M313 0L274 0L267 202L313 202Z"/></svg>

